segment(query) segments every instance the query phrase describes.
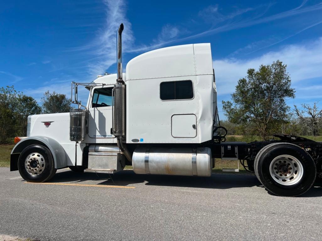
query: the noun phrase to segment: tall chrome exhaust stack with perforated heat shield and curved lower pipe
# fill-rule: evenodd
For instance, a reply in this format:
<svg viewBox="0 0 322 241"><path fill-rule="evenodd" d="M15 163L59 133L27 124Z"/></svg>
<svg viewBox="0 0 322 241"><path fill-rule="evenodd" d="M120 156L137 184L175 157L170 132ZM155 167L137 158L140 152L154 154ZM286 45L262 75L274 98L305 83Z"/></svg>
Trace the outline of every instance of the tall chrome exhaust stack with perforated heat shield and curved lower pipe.
<svg viewBox="0 0 322 241"><path fill-rule="evenodd" d="M118 148L124 153L128 161L132 162L132 154L129 152L123 139L125 137L125 83L122 76L122 32L124 29L123 23L118 27L117 31L117 65L118 65L118 78L117 84L114 85L114 116L113 121L113 134L116 136Z"/></svg>

